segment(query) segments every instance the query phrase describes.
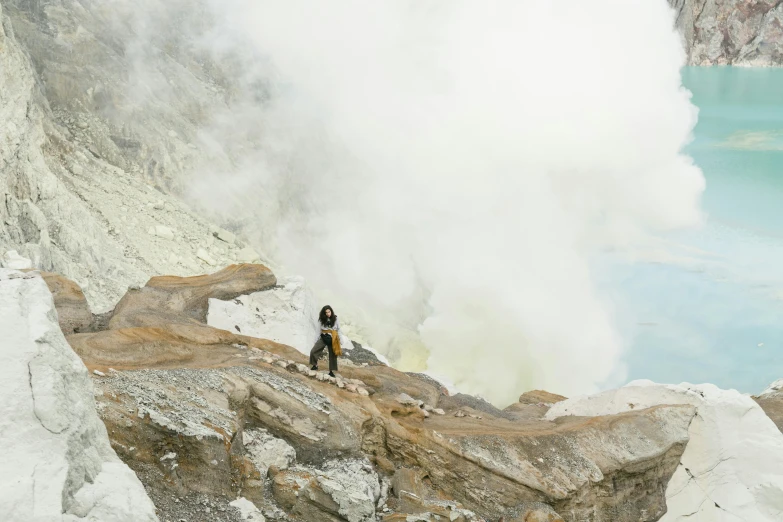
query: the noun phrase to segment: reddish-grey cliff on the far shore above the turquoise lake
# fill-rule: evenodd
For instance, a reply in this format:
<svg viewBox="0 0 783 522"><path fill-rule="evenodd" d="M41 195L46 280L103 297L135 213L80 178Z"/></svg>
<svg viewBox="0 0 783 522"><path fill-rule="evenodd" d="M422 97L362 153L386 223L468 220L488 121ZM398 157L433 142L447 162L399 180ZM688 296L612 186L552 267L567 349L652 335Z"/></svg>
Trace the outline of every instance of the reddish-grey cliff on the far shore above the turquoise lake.
<svg viewBox="0 0 783 522"><path fill-rule="evenodd" d="M779 0L669 0L689 65L783 65Z"/></svg>

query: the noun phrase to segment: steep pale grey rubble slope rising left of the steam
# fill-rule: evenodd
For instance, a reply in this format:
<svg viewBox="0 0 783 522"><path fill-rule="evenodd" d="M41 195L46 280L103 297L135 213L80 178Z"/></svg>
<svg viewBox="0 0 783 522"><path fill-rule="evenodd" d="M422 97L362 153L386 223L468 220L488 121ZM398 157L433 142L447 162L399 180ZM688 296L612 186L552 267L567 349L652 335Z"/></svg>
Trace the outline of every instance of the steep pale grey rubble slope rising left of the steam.
<svg viewBox="0 0 783 522"><path fill-rule="evenodd" d="M97 310L157 273L258 258L168 195L166 180L205 162L206 153L183 135L195 128L187 107L129 98L146 91L129 84L130 50L117 47L118 13L101 17L106 9L0 3L0 253L16 250L36 268L77 281ZM201 83L177 85L177 99L195 103L191 91Z"/></svg>

